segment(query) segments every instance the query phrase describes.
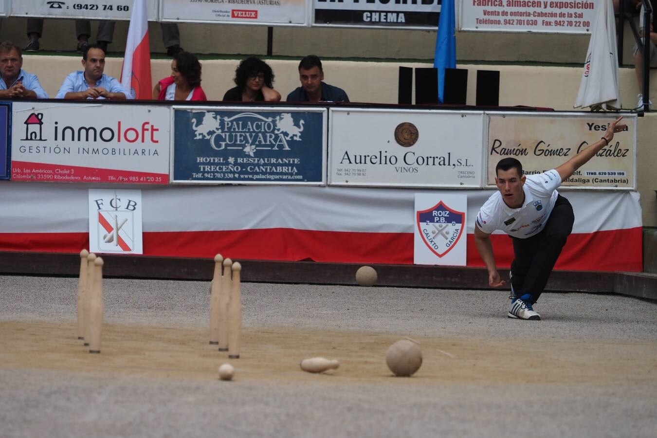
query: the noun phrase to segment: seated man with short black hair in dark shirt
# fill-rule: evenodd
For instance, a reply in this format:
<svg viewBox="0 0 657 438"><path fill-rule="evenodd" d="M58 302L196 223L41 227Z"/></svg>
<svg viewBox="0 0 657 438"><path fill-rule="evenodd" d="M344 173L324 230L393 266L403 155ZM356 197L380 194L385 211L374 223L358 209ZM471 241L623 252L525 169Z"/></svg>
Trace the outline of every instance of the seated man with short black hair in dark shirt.
<svg viewBox="0 0 657 438"><path fill-rule="evenodd" d="M288 102L349 102L343 89L324 83L324 70L319 56L308 55L299 63L301 87L292 91Z"/></svg>

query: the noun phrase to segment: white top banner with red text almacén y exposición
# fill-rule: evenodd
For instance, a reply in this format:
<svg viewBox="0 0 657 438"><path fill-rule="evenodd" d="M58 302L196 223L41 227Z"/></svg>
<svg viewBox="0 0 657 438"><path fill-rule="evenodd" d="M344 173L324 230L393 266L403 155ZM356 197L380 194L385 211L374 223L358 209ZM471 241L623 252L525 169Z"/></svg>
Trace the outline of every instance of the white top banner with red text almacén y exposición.
<svg viewBox="0 0 657 438"><path fill-rule="evenodd" d="M462 0L460 30L590 33L594 0Z"/></svg>

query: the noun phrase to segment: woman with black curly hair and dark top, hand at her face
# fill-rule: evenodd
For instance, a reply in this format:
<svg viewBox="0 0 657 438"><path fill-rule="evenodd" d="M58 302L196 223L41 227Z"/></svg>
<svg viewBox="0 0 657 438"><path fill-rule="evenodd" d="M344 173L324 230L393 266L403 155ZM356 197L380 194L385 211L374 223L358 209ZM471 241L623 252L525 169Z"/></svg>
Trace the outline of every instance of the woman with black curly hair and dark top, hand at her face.
<svg viewBox="0 0 657 438"><path fill-rule="evenodd" d="M281 94L272 88L274 72L261 59L252 56L240 62L235 70L235 84L223 95L223 100L238 102L278 102Z"/></svg>

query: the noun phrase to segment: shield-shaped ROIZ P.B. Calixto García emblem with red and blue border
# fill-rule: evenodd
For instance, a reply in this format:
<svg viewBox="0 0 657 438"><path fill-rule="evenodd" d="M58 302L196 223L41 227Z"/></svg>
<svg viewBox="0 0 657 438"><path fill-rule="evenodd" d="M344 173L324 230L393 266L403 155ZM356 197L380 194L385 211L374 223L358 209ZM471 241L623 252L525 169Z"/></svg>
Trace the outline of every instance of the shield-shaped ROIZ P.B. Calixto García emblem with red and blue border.
<svg viewBox="0 0 657 438"><path fill-rule="evenodd" d="M418 211L416 221L424 244L443 257L463 234L465 212L453 210L440 201L432 208Z"/></svg>

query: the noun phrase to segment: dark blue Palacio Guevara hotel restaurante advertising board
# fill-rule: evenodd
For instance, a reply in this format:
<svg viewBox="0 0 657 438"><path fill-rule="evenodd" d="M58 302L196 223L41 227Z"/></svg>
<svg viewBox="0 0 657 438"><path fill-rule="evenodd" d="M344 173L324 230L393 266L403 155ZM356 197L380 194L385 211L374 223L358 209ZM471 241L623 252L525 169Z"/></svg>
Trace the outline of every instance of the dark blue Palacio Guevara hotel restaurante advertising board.
<svg viewBox="0 0 657 438"><path fill-rule="evenodd" d="M173 108L173 183L325 185L325 108L236 109Z"/></svg>

